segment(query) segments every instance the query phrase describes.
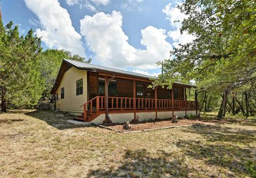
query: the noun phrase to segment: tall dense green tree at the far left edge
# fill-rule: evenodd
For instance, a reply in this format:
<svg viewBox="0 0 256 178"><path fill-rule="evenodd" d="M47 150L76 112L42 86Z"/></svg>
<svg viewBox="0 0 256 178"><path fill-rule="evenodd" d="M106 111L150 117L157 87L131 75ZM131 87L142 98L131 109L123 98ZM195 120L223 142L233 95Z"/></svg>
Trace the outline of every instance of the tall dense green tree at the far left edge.
<svg viewBox="0 0 256 178"><path fill-rule="evenodd" d="M26 36L19 34L18 26L0 21L0 84L1 108L6 103L13 107L34 106L44 90L39 55L41 39L29 30Z"/></svg>

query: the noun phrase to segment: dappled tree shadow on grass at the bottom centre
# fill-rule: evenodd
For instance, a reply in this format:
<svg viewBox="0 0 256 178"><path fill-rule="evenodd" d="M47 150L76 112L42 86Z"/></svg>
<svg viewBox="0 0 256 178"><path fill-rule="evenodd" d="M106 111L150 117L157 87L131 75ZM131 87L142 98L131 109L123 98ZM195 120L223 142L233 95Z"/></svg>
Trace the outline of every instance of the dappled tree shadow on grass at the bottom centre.
<svg viewBox="0 0 256 178"><path fill-rule="evenodd" d="M157 151L157 157L146 149L126 150L121 166L91 169L87 177L188 177L195 170L189 169L183 159L163 150Z"/></svg>

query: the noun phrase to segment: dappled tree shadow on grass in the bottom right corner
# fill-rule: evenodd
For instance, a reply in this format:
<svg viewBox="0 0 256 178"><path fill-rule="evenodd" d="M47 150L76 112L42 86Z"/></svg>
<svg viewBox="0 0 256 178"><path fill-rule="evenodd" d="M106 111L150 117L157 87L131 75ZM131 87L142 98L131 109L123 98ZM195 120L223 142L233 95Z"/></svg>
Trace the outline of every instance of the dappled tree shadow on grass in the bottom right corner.
<svg viewBox="0 0 256 178"><path fill-rule="evenodd" d="M205 144L193 141L179 141L177 147L192 159L204 160L207 166L215 165L228 169L228 177L256 177L256 164L252 150L231 144ZM238 176L239 177L239 176Z"/></svg>

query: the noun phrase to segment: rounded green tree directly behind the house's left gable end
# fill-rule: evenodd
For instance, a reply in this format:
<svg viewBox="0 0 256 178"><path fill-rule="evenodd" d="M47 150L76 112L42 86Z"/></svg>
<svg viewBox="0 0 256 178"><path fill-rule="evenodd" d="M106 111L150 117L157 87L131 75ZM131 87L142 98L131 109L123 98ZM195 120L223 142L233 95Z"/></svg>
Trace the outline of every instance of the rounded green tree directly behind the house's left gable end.
<svg viewBox="0 0 256 178"><path fill-rule="evenodd" d="M75 54L72 55L69 51L65 50L55 50L55 49L48 49L42 52L41 60L39 61L41 66L41 75L45 80L45 90L42 93L43 100L49 99L53 102L52 95L50 91L54 85L55 78L57 77L62 59L72 59L77 61L83 61L90 63L91 58L89 60L85 60L81 56Z"/></svg>

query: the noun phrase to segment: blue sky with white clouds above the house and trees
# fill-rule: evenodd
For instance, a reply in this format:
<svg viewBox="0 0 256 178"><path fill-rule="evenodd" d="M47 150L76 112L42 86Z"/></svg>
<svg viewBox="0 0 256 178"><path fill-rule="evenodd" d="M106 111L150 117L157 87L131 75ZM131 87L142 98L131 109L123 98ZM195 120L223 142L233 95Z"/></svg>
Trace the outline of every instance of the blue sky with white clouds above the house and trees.
<svg viewBox="0 0 256 178"><path fill-rule="evenodd" d="M179 1L147 0L2 0L4 25L13 21L20 33L32 28L44 50L78 54L93 64L156 76L156 62L170 58L178 44L193 37L180 34L186 18Z"/></svg>

